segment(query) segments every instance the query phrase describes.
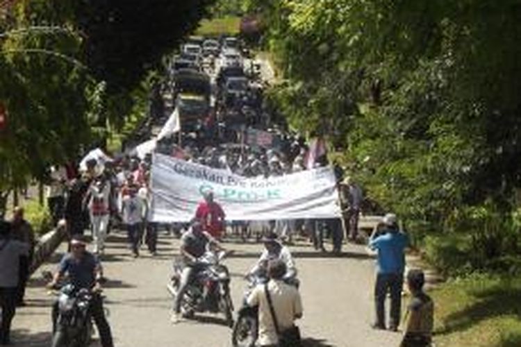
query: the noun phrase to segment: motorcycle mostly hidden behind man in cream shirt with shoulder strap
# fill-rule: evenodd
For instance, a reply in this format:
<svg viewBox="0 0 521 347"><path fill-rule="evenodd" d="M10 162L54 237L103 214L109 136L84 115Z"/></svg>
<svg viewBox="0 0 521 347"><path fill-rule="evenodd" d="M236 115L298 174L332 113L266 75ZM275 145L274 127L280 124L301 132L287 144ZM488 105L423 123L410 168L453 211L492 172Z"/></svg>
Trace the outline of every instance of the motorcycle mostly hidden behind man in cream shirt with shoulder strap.
<svg viewBox="0 0 521 347"><path fill-rule="evenodd" d="M233 331L231 334L231 344L233 347L254 347L258 338L258 306L247 305L247 298L251 291L258 285L264 285L269 278L265 271L249 274L246 276L248 286L245 291L244 301L242 307L237 314L237 320L233 324ZM296 277L296 273L290 273L284 279L288 285L293 285L297 289L300 282Z"/></svg>

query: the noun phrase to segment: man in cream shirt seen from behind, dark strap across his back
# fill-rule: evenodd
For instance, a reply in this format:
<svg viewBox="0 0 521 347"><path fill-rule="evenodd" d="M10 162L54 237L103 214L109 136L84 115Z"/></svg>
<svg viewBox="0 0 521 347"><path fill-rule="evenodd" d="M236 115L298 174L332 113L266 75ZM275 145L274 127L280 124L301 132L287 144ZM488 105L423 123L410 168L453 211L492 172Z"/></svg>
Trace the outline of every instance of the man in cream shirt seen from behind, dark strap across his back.
<svg viewBox="0 0 521 347"><path fill-rule="evenodd" d="M267 271L270 280L258 285L247 298L249 306L258 305L258 344L300 346L299 330L295 326L295 320L302 317L299 291L283 281L286 263L282 260L270 261Z"/></svg>

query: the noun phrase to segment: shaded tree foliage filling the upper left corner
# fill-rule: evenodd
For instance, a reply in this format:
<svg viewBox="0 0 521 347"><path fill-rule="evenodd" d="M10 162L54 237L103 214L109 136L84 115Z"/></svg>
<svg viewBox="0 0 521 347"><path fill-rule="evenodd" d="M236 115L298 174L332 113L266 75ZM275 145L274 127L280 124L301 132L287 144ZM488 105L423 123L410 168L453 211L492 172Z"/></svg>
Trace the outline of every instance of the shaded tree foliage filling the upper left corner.
<svg viewBox="0 0 521 347"><path fill-rule="evenodd" d="M0 191L74 160L131 112L213 0L20 0L0 19Z"/></svg>

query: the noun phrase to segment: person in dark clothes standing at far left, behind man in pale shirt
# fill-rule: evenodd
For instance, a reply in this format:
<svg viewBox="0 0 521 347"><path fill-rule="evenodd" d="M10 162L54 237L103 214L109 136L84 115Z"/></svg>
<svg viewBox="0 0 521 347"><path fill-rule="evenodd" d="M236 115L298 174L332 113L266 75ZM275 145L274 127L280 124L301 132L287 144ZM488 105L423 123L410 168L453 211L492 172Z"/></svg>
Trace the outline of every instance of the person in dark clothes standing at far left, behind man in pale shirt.
<svg viewBox="0 0 521 347"><path fill-rule="evenodd" d="M28 247L27 255L20 256L18 288L17 288L17 306L25 306L24 296L27 280L29 278L29 270L33 262L33 254L35 247L35 235L31 223L24 219L24 209L17 207L13 214L13 222L11 223L13 239L23 242Z"/></svg>

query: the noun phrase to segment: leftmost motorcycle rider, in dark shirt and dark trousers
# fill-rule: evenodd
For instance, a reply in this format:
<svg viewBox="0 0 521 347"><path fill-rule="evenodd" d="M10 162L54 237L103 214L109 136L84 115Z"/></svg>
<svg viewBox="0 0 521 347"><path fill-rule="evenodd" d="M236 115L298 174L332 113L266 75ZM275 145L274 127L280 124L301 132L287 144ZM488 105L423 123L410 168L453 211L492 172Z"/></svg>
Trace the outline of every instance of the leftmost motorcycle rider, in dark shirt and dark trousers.
<svg viewBox="0 0 521 347"><path fill-rule="evenodd" d="M53 280L47 285L49 288L56 288L56 285L65 273L69 276L69 281L76 289L90 289L92 300L90 301L90 314L94 319L99 332L101 346L113 347L112 333L110 325L105 317L103 300L99 294L101 291L100 281L103 276L101 263L92 253L86 250L87 242L83 235L73 235L71 239L71 251L63 256L58 271L54 274ZM53 330L58 319L58 301L53 305L52 310Z"/></svg>

